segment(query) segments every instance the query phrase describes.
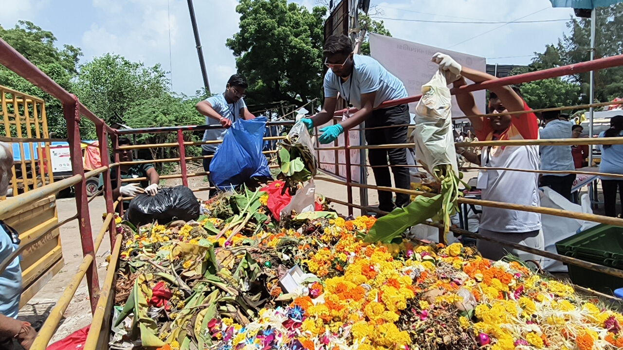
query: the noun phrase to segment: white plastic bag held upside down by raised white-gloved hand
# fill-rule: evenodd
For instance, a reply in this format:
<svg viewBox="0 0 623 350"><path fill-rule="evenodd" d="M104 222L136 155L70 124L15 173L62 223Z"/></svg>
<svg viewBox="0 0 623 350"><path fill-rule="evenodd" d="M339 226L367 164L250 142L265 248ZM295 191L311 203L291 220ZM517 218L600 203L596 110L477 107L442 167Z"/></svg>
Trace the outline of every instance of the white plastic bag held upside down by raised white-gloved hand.
<svg viewBox="0 0 623 350"><path fill-rule="evenodd" d="M416 156L430 174L435 174L435 166L451 164L459 176L450 112L452 97L447 87L447 81L453 78L447 75L451 74L438 70L430 82L422 85L422 98L416 106Z"/></svg>

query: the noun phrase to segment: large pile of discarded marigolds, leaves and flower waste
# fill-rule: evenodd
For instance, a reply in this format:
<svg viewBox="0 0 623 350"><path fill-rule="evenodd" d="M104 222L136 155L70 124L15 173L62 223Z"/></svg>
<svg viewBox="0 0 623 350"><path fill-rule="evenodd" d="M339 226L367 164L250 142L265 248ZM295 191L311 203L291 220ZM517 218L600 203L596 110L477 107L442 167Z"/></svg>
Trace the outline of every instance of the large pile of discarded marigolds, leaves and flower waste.
<svg viewBox="0 0 623 350"><path fill-rule="evenodd" d="M521 262L461 244L366 244L373 217L325 208L277 222L267 201L220 194L196 221L137 229L118 220L110 348L623 348L614 306ZM285 280L297 267L293 286Z"/></svg>

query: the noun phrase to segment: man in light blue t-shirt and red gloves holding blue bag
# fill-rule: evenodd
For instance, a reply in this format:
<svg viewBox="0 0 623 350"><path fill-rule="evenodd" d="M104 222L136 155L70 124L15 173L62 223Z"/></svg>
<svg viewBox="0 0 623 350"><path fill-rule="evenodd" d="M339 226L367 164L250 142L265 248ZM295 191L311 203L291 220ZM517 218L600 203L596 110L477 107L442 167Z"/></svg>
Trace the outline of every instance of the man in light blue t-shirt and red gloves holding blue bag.
<svg viewBox="0 0 623 350"><path fill-rule="evenodd" d="M206 98L195 106L197 111L206 116L206 125L214 124L218 121L222 128L206 130L203 133L203 141L223 140L225 131L232 125L237 118L249 120L255 118L245 105L243 97L244 92L249 87L247 80L240 74L234 74L229 78L224 93L219 93L212 97ZM201 154L203 156L214 156L219 143L209 143L201 145ZM210 162L212 158L203 159L203 169L210 171ZM208 176L208 179L210 177ZM214 186L210 181L210 186ZM210 197L216 194L216 190L210 191Z"/></svg>

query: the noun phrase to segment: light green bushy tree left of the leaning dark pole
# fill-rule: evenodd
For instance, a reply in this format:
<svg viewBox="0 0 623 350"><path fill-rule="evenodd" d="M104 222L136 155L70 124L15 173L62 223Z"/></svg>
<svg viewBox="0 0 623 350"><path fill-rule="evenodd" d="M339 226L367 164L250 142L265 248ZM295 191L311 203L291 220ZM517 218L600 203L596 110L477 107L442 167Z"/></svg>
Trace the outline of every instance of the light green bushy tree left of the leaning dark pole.
<svg viewBox="0 0 623 350"><path fill-rule="evenodd" d="M145 67L142 62L105 54L80 67L74 91L108 125L124 124L131 108L168 96L168 83L159 64Z"/></svg>

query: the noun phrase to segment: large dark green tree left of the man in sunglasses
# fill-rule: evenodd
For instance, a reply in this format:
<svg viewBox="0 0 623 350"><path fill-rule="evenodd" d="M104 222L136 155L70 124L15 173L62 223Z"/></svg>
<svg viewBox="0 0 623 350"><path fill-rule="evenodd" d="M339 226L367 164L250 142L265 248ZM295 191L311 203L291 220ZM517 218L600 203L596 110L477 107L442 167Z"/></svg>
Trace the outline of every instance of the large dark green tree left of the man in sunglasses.
<svg viewBox="0 0 623 350"><path fill-rule="evenodd" d="M247 102L305 105L322 94L325 7L287 0L240 0L240 31L227 39L249 82Z"/></svg>

